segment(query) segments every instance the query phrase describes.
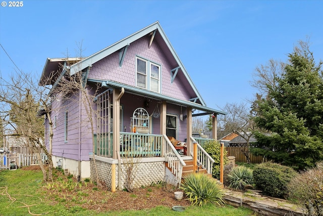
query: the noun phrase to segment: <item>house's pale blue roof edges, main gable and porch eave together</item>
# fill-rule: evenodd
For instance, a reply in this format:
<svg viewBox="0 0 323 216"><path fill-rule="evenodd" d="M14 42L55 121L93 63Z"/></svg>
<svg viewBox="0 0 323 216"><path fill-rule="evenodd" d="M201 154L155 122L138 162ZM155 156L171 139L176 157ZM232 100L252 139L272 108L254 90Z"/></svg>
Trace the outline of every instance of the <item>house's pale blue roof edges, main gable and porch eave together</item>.
<svg viewBox="0 0 323 216"><path fill-rule="evenodd" d="M226 114L226 112L206 107L204 100L202 99L200 93L196 89L191 77L186 71L184 65L179 59L177 53L175 52L173 46L171 45L171 42L169 41L168 37L166 36L163 28L161 28L158 21L155 23L152 23L151 25L131 34L130 36L86 58L82 58L82 59L81 58L72 58L72 59L47 58L45 67L42 71L39 84L41 85L52 84L53 88L55 88L55 85L58 83L58 81L56 81L56 83L50 83L48 81L45 81L46 77L50 75L55 75L56 76L55 80L59 80L60 77L62 77L65 74L66 71L70 71L70 74L73 75L77 71L84 70L86 68L91 67L94 63L100 61L101 59L115 52L118 52L118 51L120 52L122 50L126 52L127 47L132 42L146 35L150 36L150 42L148 46L150 46L153 41L156 41L160 49L165 52L165 56L167 57L168 63L173 68L170 71L172 73L172 79L175 79L176 76L178 78L185 77L185 79L183 78L183 80L187 82L187 86L191 87L191 88L187 88L187 91L189 92L189 95L192 95L192 96L194 95L193 96L194 98L191 98L190 101L183 101L183 100L170 98L159 93L153 93L150 91L141 90L139 88L135 88L135 87L132 87L123 83L111 81L111 80L88 79L88 81L100 82L103 86L106 86L106 87L110 86L114 88L124 88L126 91L129 91L129 92L136 92L136 93L140 92L152 98L168 100L172 103L179 104L179 105L191 106L192 108L204 111L205 114L211 114L211 113ZM69 63L72 63L72 65L67 66L66 61L70 61ZM120 55L120 65L122 65L122 61L123 61L122 55ZM61 72L56 72L56 71L61 71Z"/></svg>

